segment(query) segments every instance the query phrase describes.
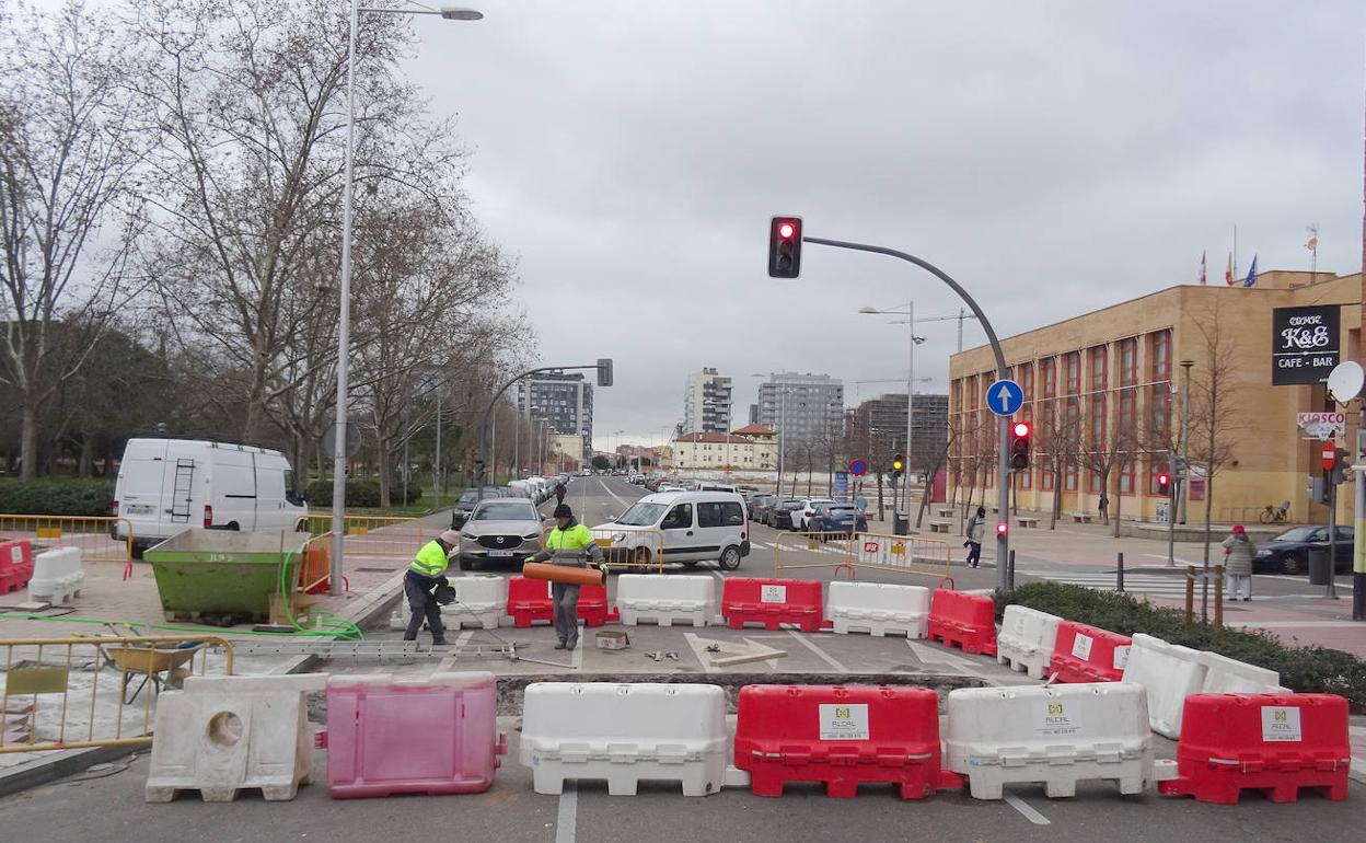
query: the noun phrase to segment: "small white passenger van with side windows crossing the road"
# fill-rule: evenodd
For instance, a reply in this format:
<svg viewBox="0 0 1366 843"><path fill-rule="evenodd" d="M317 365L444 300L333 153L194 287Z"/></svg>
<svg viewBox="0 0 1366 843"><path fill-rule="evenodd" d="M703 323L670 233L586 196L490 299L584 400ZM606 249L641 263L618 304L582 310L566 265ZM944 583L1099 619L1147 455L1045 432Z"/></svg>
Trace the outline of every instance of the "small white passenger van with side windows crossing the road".
<svg viewBox="0 0 1366 843"><path fill-rule="evenodd" d="M653 562L664 536L664 562L695 566L716 560L724 571L750 555L750 519L739 495L727 492L657 492L635 501L616 521L593 527L612 534L635 562ZM645 551L645 552L642 552Z"/></svg>

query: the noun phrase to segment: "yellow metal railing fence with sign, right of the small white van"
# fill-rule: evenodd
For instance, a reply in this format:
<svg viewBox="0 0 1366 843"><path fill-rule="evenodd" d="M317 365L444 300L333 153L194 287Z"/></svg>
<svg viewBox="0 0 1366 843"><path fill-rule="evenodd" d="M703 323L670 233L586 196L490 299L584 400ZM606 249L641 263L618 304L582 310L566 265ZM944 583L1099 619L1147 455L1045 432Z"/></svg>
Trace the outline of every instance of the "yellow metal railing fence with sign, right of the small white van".
<svg viewBox="0 0 1366 843"><path fill-rule="evenodd" d="M847 533L795 533L777 537L773 547L775 577L781 577L783 571L822 567L835 567L836 575L841 570L848 571L850 579L858 577L859 568L866 568L938 581L949 575L949 548L947 541L936 538L884 533L855 533L852 537Z"/></svg>

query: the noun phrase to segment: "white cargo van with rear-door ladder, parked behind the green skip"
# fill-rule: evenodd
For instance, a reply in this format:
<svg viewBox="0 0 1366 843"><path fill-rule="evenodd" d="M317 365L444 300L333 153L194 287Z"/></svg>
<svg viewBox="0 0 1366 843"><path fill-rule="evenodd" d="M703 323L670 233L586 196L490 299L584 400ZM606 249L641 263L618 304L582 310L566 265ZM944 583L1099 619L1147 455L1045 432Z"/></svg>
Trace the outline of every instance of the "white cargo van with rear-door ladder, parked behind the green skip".
<svg viewBox="0 0 1366 843"><path fill-rule="evenodd" d="M190 529L291 530L309 508L279 451L191 439L130 439L113 514L133 525L134 553ZM128 525L115 522L124 538Z"/></svg>

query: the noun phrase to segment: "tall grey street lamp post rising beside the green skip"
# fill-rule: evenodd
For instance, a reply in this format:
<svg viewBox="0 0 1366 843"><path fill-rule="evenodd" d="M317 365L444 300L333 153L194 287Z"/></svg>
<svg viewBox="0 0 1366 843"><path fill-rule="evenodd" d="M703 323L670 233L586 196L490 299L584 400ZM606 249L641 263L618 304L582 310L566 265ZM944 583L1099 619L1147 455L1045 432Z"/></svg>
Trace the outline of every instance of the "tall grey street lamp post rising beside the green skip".
<svg viewBox="0 0 1366 843"><path fill-rule="evenodd" d="M361 12L380 15L440 15L447 20L479 20L482 12L471 8L445 7L441 10L400 10L362 8L359 0L351 0L351 20L346 51L346 164L342 183L342 268L337 306L337 418L336 455L332 459L332 563L328 566L331 593L342 594L342 555L346 537L346 426L347 426L347 385L351 346L351 232L355 209L355 41L361 27Z"/></svg>

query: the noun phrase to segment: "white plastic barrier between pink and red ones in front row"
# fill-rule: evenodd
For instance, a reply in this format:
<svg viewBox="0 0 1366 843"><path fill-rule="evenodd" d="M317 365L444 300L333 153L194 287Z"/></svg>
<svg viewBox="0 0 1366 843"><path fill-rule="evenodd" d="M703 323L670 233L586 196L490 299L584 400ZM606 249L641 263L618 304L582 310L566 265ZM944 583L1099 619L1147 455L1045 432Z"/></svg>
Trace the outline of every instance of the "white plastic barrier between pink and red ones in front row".
<svg viewBox="0 0 1366 843"><path fill-rule="evenodd" d="M519 758L538 794L605 779L613 797L634 797L642 780L705 797L725 783L727 736L714 685L538 682L526 689Z"/></svg>

